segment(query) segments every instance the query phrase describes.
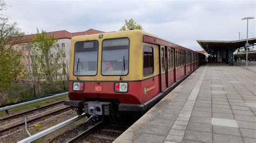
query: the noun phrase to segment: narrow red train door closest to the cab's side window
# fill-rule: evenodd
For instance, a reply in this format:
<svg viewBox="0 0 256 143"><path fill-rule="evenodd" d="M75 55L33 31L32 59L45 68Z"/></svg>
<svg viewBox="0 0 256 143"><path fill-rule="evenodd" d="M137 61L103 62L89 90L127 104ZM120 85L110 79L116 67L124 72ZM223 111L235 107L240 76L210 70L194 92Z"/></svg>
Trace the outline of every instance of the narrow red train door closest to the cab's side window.
<svg viewBox="0 0 256 143"><path fill-rule="evenodd" d="M165 47L160 46L160 55L161 55L161 91L166 89L166 76L165 76Z"/></svg>

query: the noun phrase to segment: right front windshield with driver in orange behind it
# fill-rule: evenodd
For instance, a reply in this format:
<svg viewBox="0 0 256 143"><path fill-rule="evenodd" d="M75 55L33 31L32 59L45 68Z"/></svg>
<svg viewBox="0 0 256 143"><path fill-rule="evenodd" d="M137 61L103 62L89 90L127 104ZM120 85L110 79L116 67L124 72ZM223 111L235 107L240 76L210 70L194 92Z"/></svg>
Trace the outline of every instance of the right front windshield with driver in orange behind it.
<svg viewBox="0 0 256 143"><path fill-rule="evenodd" d="M129 39L104 40L102 45L102 75L121 75L121 73L127 75L128 65Z"/></svg>

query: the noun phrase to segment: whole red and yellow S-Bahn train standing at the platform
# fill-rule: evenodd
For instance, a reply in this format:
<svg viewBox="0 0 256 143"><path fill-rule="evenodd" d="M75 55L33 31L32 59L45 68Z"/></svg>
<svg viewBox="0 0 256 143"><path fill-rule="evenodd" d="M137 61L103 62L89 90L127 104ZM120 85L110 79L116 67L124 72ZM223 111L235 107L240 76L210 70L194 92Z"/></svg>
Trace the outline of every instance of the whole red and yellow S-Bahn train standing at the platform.
<svg viewBox="0 0 256 143"><path fill-rule="evenodd" d="M73 37L64 104L95 120L143 114L204 62L204 54L142 30Z"/></svg>

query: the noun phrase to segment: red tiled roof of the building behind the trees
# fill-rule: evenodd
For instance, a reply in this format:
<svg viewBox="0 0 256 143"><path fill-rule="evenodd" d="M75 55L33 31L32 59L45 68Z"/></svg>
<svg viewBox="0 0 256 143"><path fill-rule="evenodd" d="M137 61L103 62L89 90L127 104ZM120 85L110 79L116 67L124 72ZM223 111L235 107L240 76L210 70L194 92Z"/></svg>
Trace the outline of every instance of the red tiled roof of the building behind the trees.
<svg viewBox="0 0 256 143"><path fill-rule="evenodd" d="M98 34L98 33L105 33L105 32L90 28L89 30L83 31L83 32L70 33L69 31L62 30L62 31L47 32L46 35L47 37L50 37L50 35L54 34L57 39L65 39L65 38L71 39L72 37L78 36L78 35L90 35L90 34ZM28 42L35 37L36 37L36 34L23 35L20 41Z"/></svg>

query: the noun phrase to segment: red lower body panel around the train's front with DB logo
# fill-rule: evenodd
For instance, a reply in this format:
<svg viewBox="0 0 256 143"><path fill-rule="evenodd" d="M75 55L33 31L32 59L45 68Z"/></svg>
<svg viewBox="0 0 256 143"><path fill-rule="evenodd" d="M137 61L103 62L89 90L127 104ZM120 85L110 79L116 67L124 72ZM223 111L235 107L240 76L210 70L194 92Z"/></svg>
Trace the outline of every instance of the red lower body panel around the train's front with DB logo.
<svg viewBox="0 0 256 143"><path fill-rule="evenodd" d="M86 98L117 99L120 103L142 104L159 94L159 77L152 77L144 81L129 82L128 92L114 92L114 82L86 82L84 91L73 91L73 82L69 82L69 98L85 101ZM96 90L100 87L100 91ZM98 88L99 89L99 88Z"/></svg>

